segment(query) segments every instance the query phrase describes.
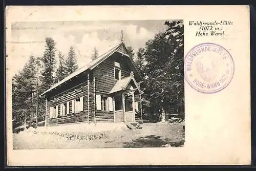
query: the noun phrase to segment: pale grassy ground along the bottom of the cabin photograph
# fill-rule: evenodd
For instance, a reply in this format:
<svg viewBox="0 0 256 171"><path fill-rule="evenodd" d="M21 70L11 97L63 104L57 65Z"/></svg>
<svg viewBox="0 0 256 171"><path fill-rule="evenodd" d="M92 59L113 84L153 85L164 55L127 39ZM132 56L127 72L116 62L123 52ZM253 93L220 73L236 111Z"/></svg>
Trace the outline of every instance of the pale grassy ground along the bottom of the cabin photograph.
<svg viewBox="0 0 256 171"><path fill-rule="evenodd" d="M68 139L55 134L33 134L23 131L13 134L14 149L33 148L117 148L117 147L173 147L184 144L181 123L144 123L143 129L117 129L104 132L103 138L93 140Z"/></svg>

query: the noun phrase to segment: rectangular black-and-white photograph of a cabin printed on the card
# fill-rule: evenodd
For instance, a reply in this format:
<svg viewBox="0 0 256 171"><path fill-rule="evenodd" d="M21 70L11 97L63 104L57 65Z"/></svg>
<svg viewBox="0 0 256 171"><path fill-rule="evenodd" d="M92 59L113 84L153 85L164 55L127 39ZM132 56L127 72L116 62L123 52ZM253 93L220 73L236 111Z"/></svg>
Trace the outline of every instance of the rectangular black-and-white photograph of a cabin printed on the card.
<svg viewBox="0 0 256 171"><path fill-rule="evenodd" d="M183 20L15 22L13 149L183 147Z"/></svg>

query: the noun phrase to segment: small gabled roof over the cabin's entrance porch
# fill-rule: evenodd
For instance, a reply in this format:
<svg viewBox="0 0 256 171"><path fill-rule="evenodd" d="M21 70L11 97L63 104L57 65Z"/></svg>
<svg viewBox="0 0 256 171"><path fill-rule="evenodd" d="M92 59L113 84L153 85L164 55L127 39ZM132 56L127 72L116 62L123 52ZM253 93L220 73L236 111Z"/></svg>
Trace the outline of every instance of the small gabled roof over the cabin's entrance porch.
<svg viewBox="0 0 256 171"><path fill-rule="evenodd" d="M115 84L115 86L112 88L112 90L109 92L109 94L112 94L112 93L115 93L115 92L119 92L121 90L125 90L127 88L127 86L129 85L129 83L133 80L137 90L141 92L136 80L134 79L133 76L129 76L129 77L126 77L124 79L121 79L121 80L118 80Z"/></svg>

